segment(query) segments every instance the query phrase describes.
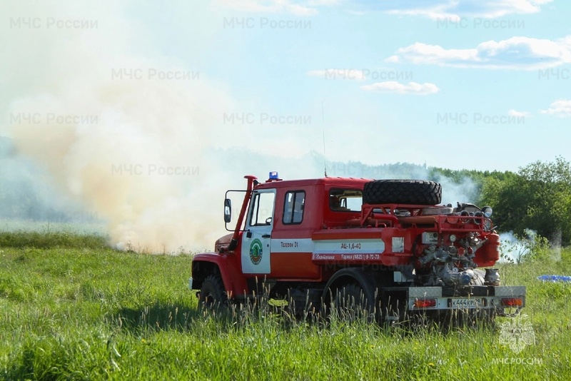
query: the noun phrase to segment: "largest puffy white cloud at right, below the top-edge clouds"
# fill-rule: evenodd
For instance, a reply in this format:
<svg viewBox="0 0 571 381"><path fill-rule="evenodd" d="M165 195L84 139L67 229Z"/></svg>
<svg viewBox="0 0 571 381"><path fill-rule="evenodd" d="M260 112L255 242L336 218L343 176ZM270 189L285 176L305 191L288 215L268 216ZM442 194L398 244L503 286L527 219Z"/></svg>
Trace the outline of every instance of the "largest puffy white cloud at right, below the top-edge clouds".
<svg viewBox="0 0 571 381"><path fill-rule="evenodd" d="M417 42L398 49L397 54L385 61L456 68L537 70L571 63L571 35L555 41L516 36L485 41L472 49L444 49Z"/></svg>

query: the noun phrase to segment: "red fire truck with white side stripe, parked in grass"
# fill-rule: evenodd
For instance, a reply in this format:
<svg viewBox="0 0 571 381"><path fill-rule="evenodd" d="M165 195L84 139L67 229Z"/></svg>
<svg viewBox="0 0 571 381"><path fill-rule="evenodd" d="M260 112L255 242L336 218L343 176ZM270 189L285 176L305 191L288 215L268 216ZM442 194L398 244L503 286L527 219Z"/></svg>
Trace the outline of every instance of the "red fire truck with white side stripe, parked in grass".
<svg viewBox="0 0 571 381"><path fill-rule="evenodd" d="M525 287L500 285L491 268L500 245L492 209L439 205L439 183L245 178L246 190L226 193L232 233L193 257L189 287L201 305L269 292L322 311L350 300L383 321L455 310L513 315L525 305ZM243 200L231 230L236 192Z"/></svg>

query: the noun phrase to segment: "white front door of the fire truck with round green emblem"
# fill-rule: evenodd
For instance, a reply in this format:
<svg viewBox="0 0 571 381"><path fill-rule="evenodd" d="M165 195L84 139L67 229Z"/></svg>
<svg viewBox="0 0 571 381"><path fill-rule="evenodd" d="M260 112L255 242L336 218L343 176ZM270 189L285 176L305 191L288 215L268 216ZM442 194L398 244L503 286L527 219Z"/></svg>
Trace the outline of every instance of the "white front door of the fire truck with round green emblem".
<svg viewBox="0 0 571 381"><path fill-rule="evenodd" d="M252 193L246 231L242 235L242 272L269 274L271 233L276 203L275 189L262 189Z"/></svg>

